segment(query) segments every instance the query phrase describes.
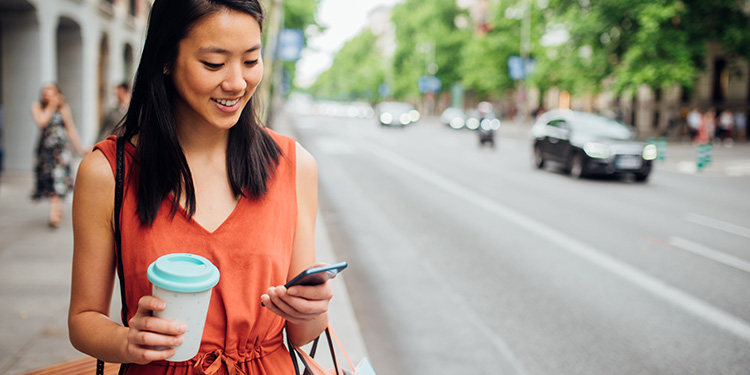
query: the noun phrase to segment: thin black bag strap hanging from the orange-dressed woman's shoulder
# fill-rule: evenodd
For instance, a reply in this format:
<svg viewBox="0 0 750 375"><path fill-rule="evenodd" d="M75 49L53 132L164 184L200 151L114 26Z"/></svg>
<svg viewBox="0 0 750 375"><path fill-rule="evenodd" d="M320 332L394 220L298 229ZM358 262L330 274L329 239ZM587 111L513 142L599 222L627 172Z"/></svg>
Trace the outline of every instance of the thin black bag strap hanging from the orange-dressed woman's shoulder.
<svg viewBox="0 0 750 375"><path fill-rule="evenodd" d="M122 208L122 196L125 189L125 138L117 137L117 149L115 152L115 257L117 264L117 277L120 281L120 302L122 304L122 324L128 326L128 305L125 302L125 275L122 273L122 240L120 238L120 209ZM120 374L124 366L120 366ZM96 375L104 375L104 361L96 360Z"/></svg>

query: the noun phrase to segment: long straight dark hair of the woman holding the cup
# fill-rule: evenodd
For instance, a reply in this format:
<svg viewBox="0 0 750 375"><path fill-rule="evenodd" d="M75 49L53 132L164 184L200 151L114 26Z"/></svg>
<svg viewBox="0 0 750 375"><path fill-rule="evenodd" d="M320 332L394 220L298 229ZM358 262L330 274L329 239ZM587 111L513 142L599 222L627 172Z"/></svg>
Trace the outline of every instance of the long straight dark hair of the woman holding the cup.
<svg viewBox="0 0 750 375"><path fill-rule="evenodd" d="M231 9L247 13L263 27L258 0L156 0L149 17L148 33L133 84L130 107L123 124L125 139L138 137L138 216L150 226L159 206L172 192L171 215L177 212L182 191L185 210L195 213L195 188L190 167L177 140L172 99L174 85L164 73L177 58L182 39L199 20ZM231 37L231 36L230 36ZM268 190L281 150L259 124L255 95L237 124L229 130L227 173L235 197L259 199Z"/></svg>

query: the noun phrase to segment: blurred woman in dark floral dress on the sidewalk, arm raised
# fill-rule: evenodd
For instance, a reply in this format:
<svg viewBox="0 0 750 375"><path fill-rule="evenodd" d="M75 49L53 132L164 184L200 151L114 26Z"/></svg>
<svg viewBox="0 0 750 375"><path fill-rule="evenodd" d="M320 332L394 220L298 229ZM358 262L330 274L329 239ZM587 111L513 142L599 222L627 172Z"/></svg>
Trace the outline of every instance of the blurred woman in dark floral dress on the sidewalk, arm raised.
<svg viewBox="0 0 750 375"><path fill-rule="evenodd" d="M49 198L49 225L57 228L62 220L62 202L73 190L70 163L73 155L69 143L79 154L85 155L73 124L70 107L57 84L42 88L39 101L32 103L31 115L41 130L36 149L36 185L32 199Z"/></svg>

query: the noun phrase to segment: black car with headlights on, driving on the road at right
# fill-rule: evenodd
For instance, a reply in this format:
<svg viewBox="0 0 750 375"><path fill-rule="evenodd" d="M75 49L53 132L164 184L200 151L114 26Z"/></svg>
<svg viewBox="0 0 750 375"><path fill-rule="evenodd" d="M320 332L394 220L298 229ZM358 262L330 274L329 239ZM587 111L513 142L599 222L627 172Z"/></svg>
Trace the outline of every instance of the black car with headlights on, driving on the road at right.
<svg viewBox="0 0 750 375"><path fill-rule="evenodd" d="M633 174L646 181L656 146L635 139L628 126L609 118L571 110L544 113L531 128L534 165L563 165L575 178Z"/></svg>

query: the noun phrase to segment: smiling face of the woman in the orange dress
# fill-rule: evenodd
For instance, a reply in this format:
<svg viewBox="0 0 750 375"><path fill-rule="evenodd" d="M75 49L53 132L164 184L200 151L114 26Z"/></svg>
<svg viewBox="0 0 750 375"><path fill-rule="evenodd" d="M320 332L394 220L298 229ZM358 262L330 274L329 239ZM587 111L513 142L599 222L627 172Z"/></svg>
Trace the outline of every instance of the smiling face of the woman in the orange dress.
<svg viewBox="0 0 750 375"><path fill-rule="evenodd" d="M169 69L178 128L234 126L263 76L260 49L260 25L249 14L222 10L196 23Z"/></svg>

